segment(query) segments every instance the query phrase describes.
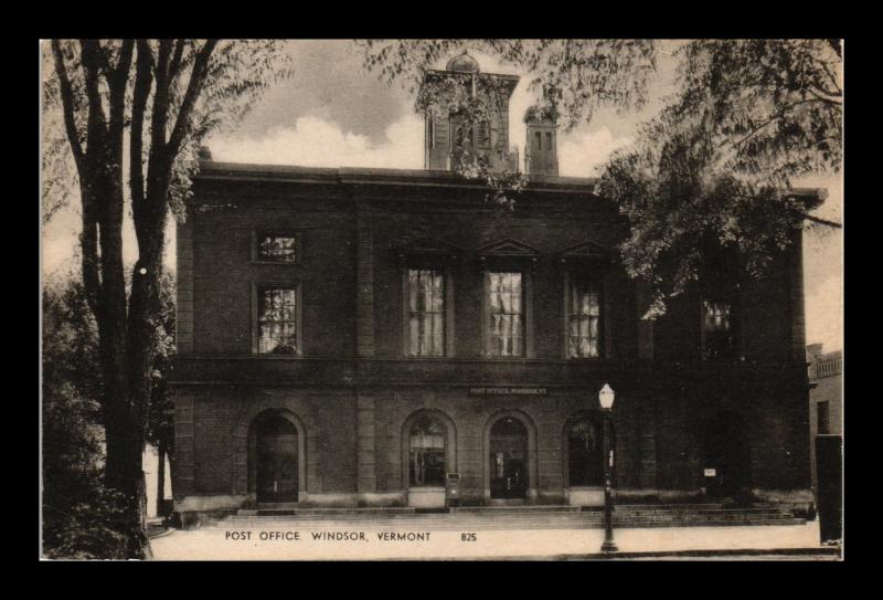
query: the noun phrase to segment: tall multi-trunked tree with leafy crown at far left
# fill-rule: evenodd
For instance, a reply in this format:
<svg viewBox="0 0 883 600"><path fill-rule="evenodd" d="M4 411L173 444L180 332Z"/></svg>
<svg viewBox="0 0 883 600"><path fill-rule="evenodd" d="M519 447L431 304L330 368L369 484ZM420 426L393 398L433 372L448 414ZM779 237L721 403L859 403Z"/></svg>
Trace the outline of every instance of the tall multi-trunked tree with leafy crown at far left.
<svg viewBox="0 0 883 600"><path fill-rule="evenodd" d="M149 548L141 453L167 214L171 208L183 217L199 144L209 133L234 125L287 71L276 41L53 40L49 45L44 207L51 214L64 202L64 175L74 171L82 209L82 277L96 320L103 377L105 483L124 498L119 533L126 556L140 558ZM123 261L127 189L138 243L130 288Z"/></svg>

